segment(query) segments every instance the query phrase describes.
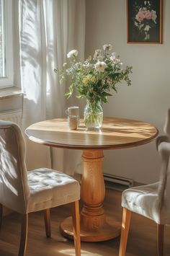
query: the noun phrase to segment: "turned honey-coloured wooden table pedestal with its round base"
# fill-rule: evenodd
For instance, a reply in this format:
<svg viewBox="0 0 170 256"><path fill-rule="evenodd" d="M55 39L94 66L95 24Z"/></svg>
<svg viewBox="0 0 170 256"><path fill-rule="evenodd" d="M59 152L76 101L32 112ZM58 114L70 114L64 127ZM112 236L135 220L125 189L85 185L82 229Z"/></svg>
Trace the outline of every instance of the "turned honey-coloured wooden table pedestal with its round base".
<svg viewBox="0 0 170 256"><path fill-rule="evenodd" d="M106 216L103 208L105 196L102 150L84 150L82 156L84 172L81 180L81 241L95 242L112 239L120 235L120 223L113 216ZM112 222L112 224L111 224ZM61 223L65 237L73 238L72 219L68 217Z"/></svg>

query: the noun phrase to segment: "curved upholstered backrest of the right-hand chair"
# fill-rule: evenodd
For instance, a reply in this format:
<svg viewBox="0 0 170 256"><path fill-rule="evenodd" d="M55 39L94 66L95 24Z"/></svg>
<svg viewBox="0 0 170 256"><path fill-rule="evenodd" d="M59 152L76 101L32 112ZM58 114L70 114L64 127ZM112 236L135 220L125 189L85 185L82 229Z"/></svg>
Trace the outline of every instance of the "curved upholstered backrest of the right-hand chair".
<svg viewBox="0 0 170 256"><path fill-rule="evenodd" d="M170 224L170 143L158 144L161 154L161 173L158 185L158 206L160 224Z"/></svg>

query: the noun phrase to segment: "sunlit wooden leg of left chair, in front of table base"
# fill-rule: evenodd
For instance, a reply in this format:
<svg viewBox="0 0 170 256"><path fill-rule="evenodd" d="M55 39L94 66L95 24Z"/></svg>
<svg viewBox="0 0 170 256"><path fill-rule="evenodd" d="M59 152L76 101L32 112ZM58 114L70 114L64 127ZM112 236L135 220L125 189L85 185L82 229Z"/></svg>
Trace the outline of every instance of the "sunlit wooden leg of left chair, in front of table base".
<svg viewBox="0 0 170 256"><path fill-rule="evenodd" d="M76 256L81 256L79 201L72 203L73 240Z"/></svg>

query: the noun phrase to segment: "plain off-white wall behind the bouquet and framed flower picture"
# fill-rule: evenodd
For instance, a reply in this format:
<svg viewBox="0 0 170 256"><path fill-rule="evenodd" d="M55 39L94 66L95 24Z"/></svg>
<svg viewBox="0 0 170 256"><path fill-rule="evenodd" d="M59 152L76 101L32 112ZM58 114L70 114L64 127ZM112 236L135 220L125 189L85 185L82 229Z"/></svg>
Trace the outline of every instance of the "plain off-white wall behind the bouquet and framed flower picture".
<svg viewBox="0 0 170 256"><path fill-rule="evenodd" d="M126 1L86 0L86 56L111 43L122 61L133 66L132 86L122 84L104 105L104 116L153 123L163 133L170 107L170 1L164 0L163 44L127 44ZM160 159L155 143L104 151L104 172L138 182L158 179Z"/></svg>

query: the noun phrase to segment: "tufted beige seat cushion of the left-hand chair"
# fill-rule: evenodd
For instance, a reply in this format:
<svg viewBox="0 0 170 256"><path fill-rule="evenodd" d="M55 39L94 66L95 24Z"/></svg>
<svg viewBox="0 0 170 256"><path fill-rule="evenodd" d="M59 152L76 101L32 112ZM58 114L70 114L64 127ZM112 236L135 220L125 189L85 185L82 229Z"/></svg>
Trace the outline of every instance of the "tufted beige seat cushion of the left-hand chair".
<svg viewBox="0 0 170 256"><path fill-rule="evenodd" d="M79 182L63 172L40 168L28 172L27 176L30 187L28 213L80 199Z"/></svg>

